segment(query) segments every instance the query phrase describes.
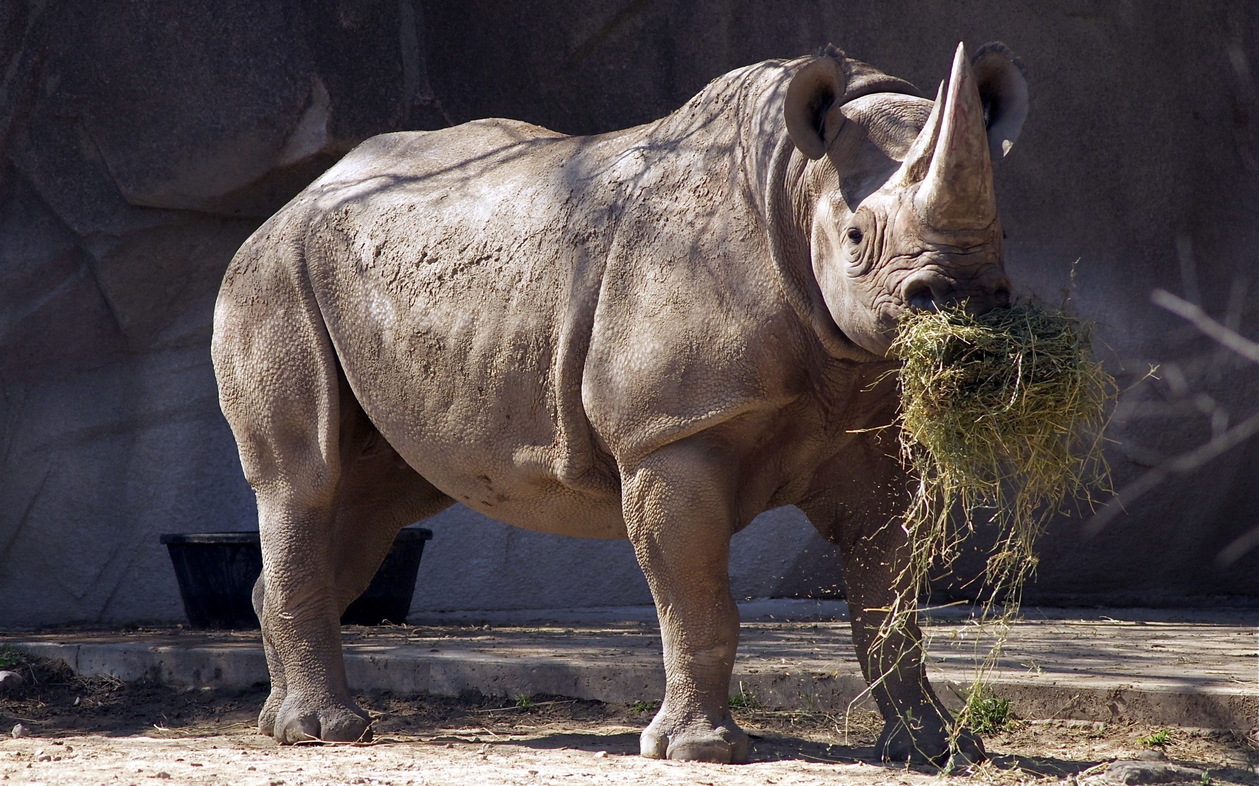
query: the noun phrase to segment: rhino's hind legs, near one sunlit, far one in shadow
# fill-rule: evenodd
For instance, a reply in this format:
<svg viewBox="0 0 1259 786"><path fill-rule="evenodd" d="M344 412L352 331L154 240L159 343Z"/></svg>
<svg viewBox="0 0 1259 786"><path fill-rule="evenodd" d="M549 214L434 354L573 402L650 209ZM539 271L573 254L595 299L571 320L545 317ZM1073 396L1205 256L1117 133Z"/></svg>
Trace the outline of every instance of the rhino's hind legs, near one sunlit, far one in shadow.
<svg viewBox="0 0 1259 786"><path fill-rule="evenodd" d="M279 742L353 742L370 718L346 684L341 611L397 531L449 499L366 423L293 246L259 236L228 272L213 345L223 412L258 501L273 679L259 729Z"/></svg>

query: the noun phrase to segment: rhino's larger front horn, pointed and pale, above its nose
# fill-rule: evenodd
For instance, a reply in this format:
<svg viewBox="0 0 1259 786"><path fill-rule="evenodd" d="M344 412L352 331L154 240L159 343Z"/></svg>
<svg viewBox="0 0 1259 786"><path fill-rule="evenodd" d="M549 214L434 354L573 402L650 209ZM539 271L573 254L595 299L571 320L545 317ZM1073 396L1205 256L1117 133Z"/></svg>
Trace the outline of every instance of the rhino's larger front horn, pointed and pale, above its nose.
<svg viewBox="0 0 1259 786"><path fill-rule="evenodd" d="M958 44L953 58L939 122L930 169L914 196L914 208L934 229L983 229L997 218L997 200L992 191L983 104L964 44Z"/></svg>

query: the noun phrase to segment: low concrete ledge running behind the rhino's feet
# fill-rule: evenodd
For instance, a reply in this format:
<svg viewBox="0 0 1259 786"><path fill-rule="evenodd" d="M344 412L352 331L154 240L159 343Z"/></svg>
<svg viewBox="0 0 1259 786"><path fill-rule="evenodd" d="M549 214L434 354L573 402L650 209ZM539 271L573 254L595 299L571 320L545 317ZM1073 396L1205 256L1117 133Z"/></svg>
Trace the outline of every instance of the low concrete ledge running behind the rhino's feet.
<svg viewBox="0 0 1259 786"><path fill-rule="evenodd" d="M817 601L812 601L817 602ZM825 601L831 602L831 601ZM794 612L838 616L836 607ZM587 610L588 611L588 610ZM583 612L587 612L583 611ZM745 616L753 610L745 610ZM778 606L774 611L781 612ZM361 690L458 695L555 694L602 702L660 699L660 638L651 623L569 628L346 628L350 685ZM764 616L772 616L765 611ZM796 614L796 619L810 616ZM1255 733L1255 629L1239 625L1040 620L1013 626L991 689L1025 719L1230 728ZM577 619L575 616L573 617ZM968 621L928 624L929 675L957 708L991 631ZM243 688L268 682L256 631L78 631L9 635L8 646L64 660L76 673L175 688ZM745 621L731 692L762 706L842 713L870 708L845 623Z"/></svg>

